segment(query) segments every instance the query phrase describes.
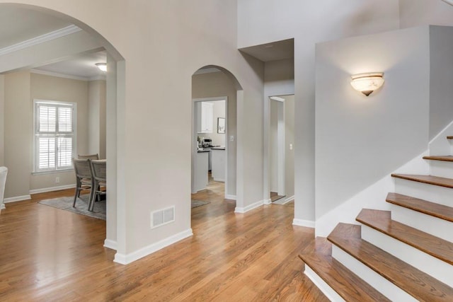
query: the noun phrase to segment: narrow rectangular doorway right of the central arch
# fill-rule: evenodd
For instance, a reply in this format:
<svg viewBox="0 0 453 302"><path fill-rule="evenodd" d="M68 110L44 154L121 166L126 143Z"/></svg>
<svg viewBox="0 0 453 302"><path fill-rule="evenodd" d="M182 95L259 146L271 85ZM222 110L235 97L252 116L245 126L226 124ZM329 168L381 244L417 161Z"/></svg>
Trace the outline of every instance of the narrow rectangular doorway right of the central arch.
<svg viewBox="0 0 453 302"><path fill-rule="evenodd" d="M275 204L294 200L294 95L269 98L268 199Z"/></svg>

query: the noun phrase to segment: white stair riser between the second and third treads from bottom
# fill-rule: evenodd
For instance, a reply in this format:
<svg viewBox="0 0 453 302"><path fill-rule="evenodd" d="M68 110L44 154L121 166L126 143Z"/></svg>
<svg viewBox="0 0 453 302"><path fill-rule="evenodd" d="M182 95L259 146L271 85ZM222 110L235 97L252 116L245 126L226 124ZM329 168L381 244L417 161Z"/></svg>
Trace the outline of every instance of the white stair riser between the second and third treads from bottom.
<svg viewBox="0 0 453 302"><path fill-rule="evenodd" d="M449 286L453 285L453 265L449 265L447 262L432 257L395 238L386 236L369 226L362 226L362 239L420 269L431 277L449 284Z"/></svg>

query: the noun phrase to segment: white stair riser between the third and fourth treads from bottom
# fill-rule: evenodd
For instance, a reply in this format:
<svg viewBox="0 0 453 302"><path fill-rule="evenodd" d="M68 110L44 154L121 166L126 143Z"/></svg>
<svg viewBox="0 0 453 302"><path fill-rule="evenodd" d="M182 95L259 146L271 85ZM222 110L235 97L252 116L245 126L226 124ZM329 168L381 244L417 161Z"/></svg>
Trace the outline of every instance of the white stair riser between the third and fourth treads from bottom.
<svg viewBox="0 0 453 302"><path fill-rule="evenodd" d="M391 204L391 219L453 243L453 222Z"/></svg>

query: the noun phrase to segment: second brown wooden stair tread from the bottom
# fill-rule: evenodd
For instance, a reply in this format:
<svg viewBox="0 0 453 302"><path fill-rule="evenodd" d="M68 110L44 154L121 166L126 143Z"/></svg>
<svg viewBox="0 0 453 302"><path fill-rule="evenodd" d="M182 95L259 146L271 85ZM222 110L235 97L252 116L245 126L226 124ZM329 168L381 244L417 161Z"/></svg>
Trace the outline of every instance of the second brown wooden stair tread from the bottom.
<svg viewBox="0 0 453 302"><path fill-rule="evenodd" d="M452 287L362 240L360 226L338 223L328 240L419 301L452 301Z"/></svg>

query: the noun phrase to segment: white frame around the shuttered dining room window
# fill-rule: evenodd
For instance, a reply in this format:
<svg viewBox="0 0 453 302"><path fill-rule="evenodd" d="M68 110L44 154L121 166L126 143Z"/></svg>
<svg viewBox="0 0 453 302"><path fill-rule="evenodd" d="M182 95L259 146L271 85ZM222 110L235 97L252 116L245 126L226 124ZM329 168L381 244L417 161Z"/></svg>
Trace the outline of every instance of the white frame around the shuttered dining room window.
<svg viewBox="0 0 453 302"><path fill-rule="evenodd" d="M39 150L38 150L38 139L39 137L42 137L43 134L40 134L38 132L39 127L38 127L38 107L39 105L51 105L55 106L55 108L61 108L61 107L69 107L72 108L72 132L71 134L59 134L58 132L58 120L56 124L56 131L55 134L50 134L50 137L55 137L57 139L59 136L61 137L71 137L72 136L72 151L71 151L71 158L74 158L77 150L77 103L74 102L64 102L64 101L58 101L58 100L42 100L42 99L33 99L33 172L32 174L47 174L47 173L61 173L65 171L71 171L74 170L74 167L65 167L65 168L58 168L57 166L57 156L58 156L58 150L55 150L55 168L44 168L40 169L38 167L39 165ZM57 109L58 110L58 109ZM57 144L55 146L57 148Z"/></svg>

